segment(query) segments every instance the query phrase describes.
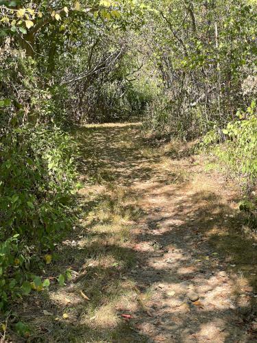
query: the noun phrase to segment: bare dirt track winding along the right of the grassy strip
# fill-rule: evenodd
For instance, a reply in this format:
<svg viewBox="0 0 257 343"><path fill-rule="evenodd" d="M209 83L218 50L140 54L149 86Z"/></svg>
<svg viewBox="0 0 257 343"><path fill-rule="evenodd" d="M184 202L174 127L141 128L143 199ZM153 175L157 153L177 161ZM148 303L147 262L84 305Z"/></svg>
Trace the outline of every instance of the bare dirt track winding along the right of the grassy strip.
<svg viewBox="0 0 257 343"><path fill-rule="evenodd" d="M190 158L145 156L138 135L136 126L106 126L91 137L106 174L130 187L144 213L130 277L151 294L130 325L149 342L257 340L257 255L236 232L236 193Z"/></svg>

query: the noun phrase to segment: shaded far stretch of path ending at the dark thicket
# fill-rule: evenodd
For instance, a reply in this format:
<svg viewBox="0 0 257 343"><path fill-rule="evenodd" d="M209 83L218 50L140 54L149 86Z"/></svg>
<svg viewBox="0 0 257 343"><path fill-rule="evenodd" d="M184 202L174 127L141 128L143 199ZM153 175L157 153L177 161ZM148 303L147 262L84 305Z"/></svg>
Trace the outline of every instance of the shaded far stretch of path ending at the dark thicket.
<svg viewBox="0 0 257 343"><path fill-rule="evenodd" d="M76 132L82 152L82 174L130 186L135 181L151 178L152 163L158 158L145 158L138 146L138 123L114 126L89 126ZM128 140L127 138L130 138Z"/></svg>

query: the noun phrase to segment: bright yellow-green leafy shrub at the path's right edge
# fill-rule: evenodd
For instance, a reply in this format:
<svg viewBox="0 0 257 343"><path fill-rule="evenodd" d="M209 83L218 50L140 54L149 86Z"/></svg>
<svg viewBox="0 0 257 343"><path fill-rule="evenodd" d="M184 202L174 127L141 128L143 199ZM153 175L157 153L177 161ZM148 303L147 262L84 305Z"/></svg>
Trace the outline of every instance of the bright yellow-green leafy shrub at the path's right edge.
<svg viewBox="0 0 257 343"><path fill-rule="evenodd" d="M239 209L248 213L248 224L256 227L256 200L249 200L249 192L257 182L257 112L253 101L246 111L238 110L237 119L218 132L211 130L202 145L218 158L219 166L227 174L237 178L248 193ZM221 143L223 141L223 143ZM219 144L216 144L219 143ZM252 195L255 196L255 192Z"/></svg>

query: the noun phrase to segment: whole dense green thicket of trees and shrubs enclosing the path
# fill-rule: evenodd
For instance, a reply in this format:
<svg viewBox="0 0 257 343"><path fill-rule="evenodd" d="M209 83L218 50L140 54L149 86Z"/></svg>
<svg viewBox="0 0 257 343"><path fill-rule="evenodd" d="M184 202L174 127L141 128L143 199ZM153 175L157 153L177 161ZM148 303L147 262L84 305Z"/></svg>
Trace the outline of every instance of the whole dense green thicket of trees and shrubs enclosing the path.
<svg viewBox="0 0 257 343"><path fill-rule="evenodd" d="M73 222L74 123L208 133L254 183L256 32L256 1L0 0L0 309L48 285L24 270Z"/></svg>

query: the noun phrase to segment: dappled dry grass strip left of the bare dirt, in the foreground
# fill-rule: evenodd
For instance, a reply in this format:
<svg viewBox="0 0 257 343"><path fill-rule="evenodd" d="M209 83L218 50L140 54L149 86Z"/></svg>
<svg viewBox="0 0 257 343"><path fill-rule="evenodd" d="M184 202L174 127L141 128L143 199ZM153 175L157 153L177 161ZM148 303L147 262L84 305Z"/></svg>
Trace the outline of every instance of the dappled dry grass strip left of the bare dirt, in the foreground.
<svg viewBox="0 0 257 343"><path fill-rule="evenodd" d="M25 314L38 342L112 342L132 334L120 314L138 307L135 283L124 275L136 264L131 233L140 207L127 189L114 183L86 185L80 198L84 215L79 227L64 239L58 261L46 270L51 276L67 268L76 273L64 287L52 285L51 292L34 298L40 308L35 312L32 305L36 316Z"/></svg>

